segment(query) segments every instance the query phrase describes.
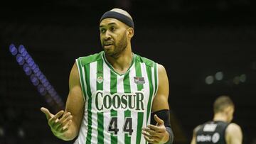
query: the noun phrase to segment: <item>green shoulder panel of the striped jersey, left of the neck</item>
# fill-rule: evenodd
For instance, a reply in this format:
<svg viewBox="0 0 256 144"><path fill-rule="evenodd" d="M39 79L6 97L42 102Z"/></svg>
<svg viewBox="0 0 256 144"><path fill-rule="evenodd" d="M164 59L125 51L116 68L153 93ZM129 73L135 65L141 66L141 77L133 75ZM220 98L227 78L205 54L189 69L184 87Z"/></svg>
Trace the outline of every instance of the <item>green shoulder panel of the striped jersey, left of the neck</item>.
<svg viewBox="0 0 256 144"><path fill-rule="evenodd" d="M87 55L87 56L84 56L84 57L78 57L76 59L76 61L80 62L80 65L87 65L91 62L101 60L102 59L102 52L98 52L98 53L95 53L95 54L92 54L92 55Z"/></svg>

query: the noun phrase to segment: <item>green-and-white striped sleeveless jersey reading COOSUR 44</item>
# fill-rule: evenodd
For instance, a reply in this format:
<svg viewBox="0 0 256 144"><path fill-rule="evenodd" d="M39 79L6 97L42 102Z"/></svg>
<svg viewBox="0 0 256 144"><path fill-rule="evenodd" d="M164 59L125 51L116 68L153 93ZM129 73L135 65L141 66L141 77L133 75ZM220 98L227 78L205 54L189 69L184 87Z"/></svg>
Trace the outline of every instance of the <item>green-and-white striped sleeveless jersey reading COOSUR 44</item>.
<svg viewBox="0 0 256 144"><path fill-rule="evenodd" d="M146 143L142 127L150 123L158 88L157 63L134 54L118 74L105 52L76 59L85 111L76 144Z"/></svg>

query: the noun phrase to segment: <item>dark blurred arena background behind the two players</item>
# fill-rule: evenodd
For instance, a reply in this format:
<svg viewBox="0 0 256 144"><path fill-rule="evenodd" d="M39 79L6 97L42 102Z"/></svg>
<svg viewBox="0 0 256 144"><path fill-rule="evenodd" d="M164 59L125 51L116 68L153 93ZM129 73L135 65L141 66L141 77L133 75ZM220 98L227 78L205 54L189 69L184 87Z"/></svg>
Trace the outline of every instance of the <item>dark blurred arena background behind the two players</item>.
<svg viewBox="0 0 256 144"><path fill-rule="evenodd" d="M175 144L190 143L222 94L243 143L256 143L255 1L9 0L0 2L1 144L73 143L53 136L40 108L63 109L75 58L102 50L99 20L113 8L134 19L132 50L166 67Z"/></svg>

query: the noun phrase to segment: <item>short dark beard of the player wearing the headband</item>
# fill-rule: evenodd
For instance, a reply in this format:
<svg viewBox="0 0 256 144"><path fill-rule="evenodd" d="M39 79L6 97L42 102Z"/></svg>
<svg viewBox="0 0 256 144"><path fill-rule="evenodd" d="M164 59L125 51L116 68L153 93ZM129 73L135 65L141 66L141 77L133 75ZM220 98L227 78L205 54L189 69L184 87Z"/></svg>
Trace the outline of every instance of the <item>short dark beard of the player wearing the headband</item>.
<svg viewBox="0 0 256 144"><path fill-rule="evenodd" d="M110 57L118 57L120 53L122 53L125 48L127 48L127 37L126 35L122 35L122 38L116 43L114 43L114 50L112 52L108 52L105 50L105 55Z"/></svg>

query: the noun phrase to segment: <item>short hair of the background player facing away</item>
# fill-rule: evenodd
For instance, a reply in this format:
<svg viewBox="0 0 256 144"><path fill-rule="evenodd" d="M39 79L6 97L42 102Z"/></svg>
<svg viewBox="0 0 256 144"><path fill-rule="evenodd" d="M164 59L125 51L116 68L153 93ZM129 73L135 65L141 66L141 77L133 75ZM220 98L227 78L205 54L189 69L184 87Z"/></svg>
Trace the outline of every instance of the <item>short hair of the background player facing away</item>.
<svg viewBox="0 0 256 144"><path fill-rule="evenodd" d="M234 107L234 103L233 101L230 99L229 96L219 96L213 104L213 111L214 113L218 113L218 112L222 112L224 111L225 108L227 108L228 106L233 106Z"/></svg>

